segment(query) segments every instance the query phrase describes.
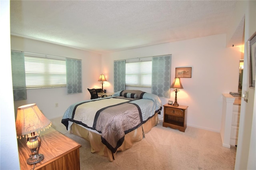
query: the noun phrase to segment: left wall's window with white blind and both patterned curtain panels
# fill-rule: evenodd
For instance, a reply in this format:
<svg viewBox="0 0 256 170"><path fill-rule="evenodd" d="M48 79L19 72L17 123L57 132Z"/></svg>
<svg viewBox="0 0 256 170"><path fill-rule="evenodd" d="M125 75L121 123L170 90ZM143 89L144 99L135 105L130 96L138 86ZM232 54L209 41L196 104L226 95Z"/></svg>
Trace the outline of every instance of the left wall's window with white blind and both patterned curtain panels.
<svg viewBox="0 0 256 170"><path fill-rule="evenodd" d="M26 89L66 87L67 94L82 93L81 59L16 50L11 54L13 89L18 93L18 97L14 93L15 100L26 99ZM21 86L21 81L24 87L16 88L16 82Z"/></svg>

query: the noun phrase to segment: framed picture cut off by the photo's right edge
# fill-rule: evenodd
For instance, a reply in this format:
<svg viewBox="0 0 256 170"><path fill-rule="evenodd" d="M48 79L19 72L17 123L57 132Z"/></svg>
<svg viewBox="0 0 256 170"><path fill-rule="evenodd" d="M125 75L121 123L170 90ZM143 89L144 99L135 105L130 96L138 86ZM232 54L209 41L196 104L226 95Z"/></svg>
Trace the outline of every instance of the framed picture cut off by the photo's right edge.
<svg viewBox="0 0 256 170"><path fill-rule="evenodd" d="M250 85L249 87L255 87L255 66L256 66L256 32L250 38L248 42L249 50L248 55L250 56Z"/></svg>

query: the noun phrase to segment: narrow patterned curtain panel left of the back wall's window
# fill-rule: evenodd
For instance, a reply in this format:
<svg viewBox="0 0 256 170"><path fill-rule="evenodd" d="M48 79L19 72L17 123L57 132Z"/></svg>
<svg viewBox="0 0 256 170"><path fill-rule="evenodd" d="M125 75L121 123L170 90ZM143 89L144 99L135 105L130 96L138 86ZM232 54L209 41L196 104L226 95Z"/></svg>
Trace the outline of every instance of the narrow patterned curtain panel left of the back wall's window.
<svg viewBox="0 0 256 170"><path fill-rule="evenodd" d="M125 60L114 61L114 92L125 90Z"/></svg>

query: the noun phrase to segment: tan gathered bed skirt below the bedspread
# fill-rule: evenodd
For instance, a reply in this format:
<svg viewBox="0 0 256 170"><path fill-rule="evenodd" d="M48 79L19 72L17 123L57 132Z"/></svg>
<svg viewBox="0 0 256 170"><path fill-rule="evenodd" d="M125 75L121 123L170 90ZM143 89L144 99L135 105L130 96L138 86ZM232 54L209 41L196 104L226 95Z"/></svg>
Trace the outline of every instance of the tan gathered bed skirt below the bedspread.
<svg viewBox="0 0 256 170"><path fill-rule="evenodd" d="M159 123L158 114L156 113L152 118L150 118L142 126L136 128L135 130L132 130L128 134L125 134L124 142L117 149L116 153L118 151L124 151L128 148L131 148L134 142L138 142L138 141L142 140L142 138L144 137L144 134L148 133L151 130L151 128L156 126L158 123ZM97 134L90 130L87 130L87 129L77 125L76 123L73 123L71 125L70 133L75 134L77 136L80 136L80 137L88 140L91 145L92 153L99 154L100 156L106 156L106 157L108 157L109 161L113 161L116 158L116 153L112 153L112 151L109 150L107 148L107 146L101 142L100 134Z"/></svg>

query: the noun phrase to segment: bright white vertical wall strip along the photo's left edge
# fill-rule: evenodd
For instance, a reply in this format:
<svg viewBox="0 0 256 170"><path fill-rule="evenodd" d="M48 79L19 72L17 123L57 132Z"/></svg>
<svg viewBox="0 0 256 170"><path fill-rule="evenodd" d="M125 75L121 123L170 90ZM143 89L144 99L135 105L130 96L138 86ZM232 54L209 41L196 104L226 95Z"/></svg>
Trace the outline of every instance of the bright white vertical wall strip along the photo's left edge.
<svg viewBox="0 0 256 170"><path fill-rule="evenodd" d="M16 138L12 95L10 54L10 2L0 1L1 95L0 95L0 169L18 170L20 162ZM3 81L4 80L4 81ZM4 82L4 83L3 83Z"/></svg>

